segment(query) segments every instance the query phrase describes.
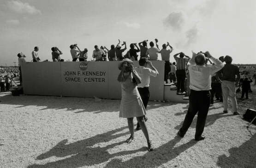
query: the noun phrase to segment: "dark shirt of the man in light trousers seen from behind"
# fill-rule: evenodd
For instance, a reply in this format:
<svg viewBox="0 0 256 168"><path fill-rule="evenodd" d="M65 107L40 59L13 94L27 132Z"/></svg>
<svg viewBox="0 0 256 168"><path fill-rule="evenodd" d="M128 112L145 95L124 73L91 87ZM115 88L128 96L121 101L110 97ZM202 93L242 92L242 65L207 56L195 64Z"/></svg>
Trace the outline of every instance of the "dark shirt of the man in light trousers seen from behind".
<svg viewBox="0 0 256 168"><path fill-rule="evenodd" d="M239 68L234 64L225 64L221 69L222 81L235 81L236 75L239 74Z"/></svg>

